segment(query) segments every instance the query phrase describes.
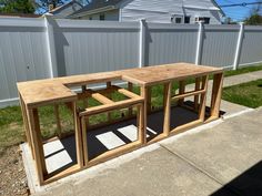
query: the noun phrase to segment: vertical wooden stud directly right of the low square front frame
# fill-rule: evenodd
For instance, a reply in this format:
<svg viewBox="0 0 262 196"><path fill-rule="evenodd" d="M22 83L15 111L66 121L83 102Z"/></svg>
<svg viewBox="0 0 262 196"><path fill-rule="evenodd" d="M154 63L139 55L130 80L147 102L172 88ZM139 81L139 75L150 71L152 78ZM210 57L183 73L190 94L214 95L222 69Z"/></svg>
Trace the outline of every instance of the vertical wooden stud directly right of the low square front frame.
<svg viewBox="0 0 262 196"><path fill-rule="evenodd" d="M142 136L142 143L147 143L147 125L148 125L148 87L141 86L141 96L144 99L144 105L143 105L143 113L141 114L141 117L143 118L143 136Z"/></svg>

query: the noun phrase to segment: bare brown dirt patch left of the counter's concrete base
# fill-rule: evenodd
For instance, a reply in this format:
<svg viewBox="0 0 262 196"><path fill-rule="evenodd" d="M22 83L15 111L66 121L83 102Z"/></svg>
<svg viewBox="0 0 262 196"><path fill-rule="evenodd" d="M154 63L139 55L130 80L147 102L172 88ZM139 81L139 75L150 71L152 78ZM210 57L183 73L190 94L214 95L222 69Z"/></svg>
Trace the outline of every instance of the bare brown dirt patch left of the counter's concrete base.
<svg viewBox="0 0 262 196"><path fill-rule="evenodd" d="M29 195L19 146L0 148L0 195Z"/></svg>

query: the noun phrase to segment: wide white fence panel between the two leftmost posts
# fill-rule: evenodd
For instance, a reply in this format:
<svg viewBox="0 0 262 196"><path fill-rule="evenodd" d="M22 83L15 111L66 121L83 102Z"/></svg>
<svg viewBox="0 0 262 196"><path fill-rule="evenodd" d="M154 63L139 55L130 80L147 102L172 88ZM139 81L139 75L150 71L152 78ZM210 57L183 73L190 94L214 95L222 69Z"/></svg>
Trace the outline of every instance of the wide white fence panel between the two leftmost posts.
<svg viewBox="0 0 262 196"><path fill-rule="evenodd" d="M138 22L58 20L54 32L59 75L138 66Z"/></svg>

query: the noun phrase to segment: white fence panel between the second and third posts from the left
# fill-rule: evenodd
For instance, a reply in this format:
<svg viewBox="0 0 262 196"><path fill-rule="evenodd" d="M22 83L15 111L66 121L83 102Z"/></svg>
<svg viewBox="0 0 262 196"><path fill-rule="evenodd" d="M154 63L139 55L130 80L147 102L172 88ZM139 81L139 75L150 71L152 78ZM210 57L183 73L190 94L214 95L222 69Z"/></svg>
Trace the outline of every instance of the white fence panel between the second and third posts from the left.
<svg viewBox="0 0 262 196"><path fill-rule="evenodd" d="M198 25L148 24L145 64L195 61Z"/></svg>

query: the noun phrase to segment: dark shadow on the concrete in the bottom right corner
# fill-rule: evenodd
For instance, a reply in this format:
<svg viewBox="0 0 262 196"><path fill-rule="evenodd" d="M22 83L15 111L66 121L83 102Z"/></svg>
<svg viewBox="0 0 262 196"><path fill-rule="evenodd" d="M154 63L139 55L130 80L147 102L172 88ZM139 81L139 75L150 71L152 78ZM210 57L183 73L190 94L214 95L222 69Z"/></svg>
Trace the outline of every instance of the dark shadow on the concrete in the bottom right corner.
<svg viewBox="0 0 262 196"><path fill-rule="evenodd" d="M224 185L211 196L222 196L223 193L231 192L241 196L261 196L262 195L262 162L259 162L240 176Z"/></svg>

